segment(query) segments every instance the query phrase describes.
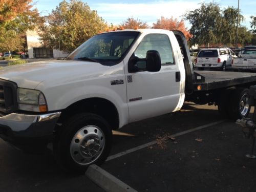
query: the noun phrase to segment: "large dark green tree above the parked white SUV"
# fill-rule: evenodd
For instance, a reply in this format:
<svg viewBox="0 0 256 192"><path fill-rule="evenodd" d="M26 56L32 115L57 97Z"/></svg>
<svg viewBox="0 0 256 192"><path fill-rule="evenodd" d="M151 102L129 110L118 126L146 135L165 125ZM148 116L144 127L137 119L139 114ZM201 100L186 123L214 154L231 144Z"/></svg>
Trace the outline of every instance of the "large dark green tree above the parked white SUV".
<svg viewBox="0 0 256 192"><path fill-rule="evenodd" d="M239 16L240 25L244 16ZM216 3L202 3L199 9L188 11L184 18L192 24L191 44L236 45L238 9L228 7L221 10ZM239 27L238 42L243 45L250 40L251 34L247 29Z"/></svg>

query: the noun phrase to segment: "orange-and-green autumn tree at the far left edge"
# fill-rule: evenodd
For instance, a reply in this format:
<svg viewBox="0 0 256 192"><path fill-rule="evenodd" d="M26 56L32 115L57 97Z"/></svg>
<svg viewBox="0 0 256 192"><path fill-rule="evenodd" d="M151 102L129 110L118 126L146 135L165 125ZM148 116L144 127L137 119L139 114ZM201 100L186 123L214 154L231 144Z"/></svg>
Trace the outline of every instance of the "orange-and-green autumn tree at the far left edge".
<svg viewBox="0 0 256 192"><path fill-rule="evenodd" d="M32 0L0 0L0 51L20 50L24 34L41 19Z"/></svg>

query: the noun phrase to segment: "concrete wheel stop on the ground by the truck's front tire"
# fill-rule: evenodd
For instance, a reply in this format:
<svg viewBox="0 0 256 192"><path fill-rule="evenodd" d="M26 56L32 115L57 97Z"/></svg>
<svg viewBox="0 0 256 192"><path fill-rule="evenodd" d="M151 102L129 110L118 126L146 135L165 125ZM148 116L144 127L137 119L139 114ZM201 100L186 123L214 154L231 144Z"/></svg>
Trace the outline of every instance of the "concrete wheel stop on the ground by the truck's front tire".
<svg viewBox="0 0 256 192"><path fill-rule="evenodd" d="M129 185L126 185L124 182L120 181L119 179L95 164L88 167L86 171L86 176L105 191L137 192L137 190L133 189Z"/></svg>

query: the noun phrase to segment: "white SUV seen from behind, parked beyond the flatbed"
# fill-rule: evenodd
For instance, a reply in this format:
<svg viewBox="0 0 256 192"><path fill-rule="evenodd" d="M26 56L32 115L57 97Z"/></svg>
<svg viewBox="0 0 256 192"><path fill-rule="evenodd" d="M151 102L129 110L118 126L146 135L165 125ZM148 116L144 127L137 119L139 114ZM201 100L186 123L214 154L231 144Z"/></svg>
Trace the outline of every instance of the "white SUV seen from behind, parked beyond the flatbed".
<svg viewBox="0 0 256 192"><path fill-rule="evenodd" d="M229 48L201 49L197 55L196 67L199 70L208 68L226 71L226 67L231 66L233 55L233 51Z"/></svg>

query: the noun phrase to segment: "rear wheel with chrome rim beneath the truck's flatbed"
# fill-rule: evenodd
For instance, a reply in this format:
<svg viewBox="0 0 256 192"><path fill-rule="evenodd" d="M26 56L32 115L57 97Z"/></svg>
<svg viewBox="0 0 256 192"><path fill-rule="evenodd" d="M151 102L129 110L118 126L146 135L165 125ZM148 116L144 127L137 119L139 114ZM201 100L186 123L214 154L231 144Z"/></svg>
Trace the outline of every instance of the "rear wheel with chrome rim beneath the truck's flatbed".
<svg viewBox="0 0 256 192"><path fill-rule="evenodd" d="M249 89L237 88L231 92L228 113L233 120L247 117L250 113Z"/></svg>

